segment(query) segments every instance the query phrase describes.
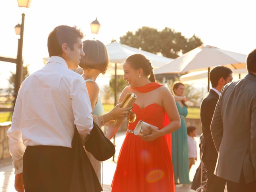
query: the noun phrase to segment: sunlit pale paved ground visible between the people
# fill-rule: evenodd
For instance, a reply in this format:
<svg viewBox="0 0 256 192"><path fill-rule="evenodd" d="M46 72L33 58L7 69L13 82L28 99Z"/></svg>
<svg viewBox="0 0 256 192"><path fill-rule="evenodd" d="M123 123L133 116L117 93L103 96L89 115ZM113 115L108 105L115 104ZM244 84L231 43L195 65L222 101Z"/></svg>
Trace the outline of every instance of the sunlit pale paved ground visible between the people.
<svg viewBox="0 0 256 192"><path fill-rule="evenodd" d="M125 137L125 132L118 133L116 135L116 155L115 162L117 161L117 157L122 146L122 142ZM199 143L199 136L195 138ZM199 148L198 148L199 154ZM200 159L198 157L198 159ZM103 162L103 191L110 192L111 191L111 183L112 178L116 169L116 163L113 162L112 158ZM194 174L196 172L196 168L200 164L199 161L196 162L194 166L192 166L190 170L190 180L193 180ZM11 160L4 160L0 162L0 192L15 192L14 189L14 168L11 164ZM190 189L190 185L176 185L176 192L195 192Z"/></svg>

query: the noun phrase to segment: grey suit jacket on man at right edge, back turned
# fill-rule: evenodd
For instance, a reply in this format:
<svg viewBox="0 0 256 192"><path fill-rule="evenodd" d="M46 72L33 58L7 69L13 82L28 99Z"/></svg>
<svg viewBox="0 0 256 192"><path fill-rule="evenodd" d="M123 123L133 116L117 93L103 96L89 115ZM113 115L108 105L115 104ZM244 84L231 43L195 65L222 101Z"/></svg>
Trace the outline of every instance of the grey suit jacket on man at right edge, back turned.
<svg viewBox="0 0 256 192"><path fill-rule="evenodd" d="M246 183L256 180L256 76L227 84L222 89L211 123L218 160L214 174Z"/></svg>

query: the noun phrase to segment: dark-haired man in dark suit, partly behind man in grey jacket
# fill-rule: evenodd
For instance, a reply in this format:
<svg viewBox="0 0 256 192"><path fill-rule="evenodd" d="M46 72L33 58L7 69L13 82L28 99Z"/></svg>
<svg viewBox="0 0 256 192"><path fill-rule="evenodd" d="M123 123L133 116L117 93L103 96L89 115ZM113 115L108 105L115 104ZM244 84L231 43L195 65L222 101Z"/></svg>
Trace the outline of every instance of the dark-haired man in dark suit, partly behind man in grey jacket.
<svg viewBox="0 0 256 192"><path fill-rule="evenodd" d="M206 192L224 192L226 181L213 174L218 152L212 140L210 125L221 89L225 84L232 81L232 70L225 66L216 66L210 71L210 81L212 88L204 97L200 106L204 138L204 142L202 142L202 161L206 168Z"/></svg>

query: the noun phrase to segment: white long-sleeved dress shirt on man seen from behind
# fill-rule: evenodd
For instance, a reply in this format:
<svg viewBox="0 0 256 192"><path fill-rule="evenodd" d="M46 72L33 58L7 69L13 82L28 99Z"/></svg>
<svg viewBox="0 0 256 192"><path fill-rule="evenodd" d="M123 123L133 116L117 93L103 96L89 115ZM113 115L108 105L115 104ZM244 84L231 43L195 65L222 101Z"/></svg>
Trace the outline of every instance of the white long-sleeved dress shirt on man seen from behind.
<svg viewBox="0 0 256 192"><path fill-rule="evenodd" d="M68 69L66 61L52 56L46 66L22 82L12 126L9 151L15 174L22 172L26 146L71 148L74 127L85 138L93 127L92 107L82 76Z"/></svg>

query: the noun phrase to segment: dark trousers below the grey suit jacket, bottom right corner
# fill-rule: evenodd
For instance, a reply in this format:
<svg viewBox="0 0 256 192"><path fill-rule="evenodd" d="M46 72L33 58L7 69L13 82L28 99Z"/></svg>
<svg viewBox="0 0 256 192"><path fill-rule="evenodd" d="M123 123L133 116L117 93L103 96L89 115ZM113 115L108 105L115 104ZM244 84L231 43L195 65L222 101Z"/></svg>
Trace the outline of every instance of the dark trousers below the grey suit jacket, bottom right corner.
<svg viewBox="0 0 256 192"><path fill-rule="evenodd" d="M244 180L244 173L242 171L239 183L227 180L228 192L255 192L256 180L251 183L247 183Z"/></svg>

